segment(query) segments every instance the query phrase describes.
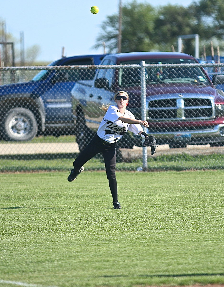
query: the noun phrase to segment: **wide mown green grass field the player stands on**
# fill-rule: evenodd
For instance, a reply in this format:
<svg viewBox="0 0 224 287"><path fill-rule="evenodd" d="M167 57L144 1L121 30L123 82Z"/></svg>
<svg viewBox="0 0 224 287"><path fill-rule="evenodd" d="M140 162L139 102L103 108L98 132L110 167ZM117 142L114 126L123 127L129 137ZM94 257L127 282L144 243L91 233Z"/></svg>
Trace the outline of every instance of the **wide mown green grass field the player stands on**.
<svg viewBox="0 0 224 287"><path fill-rule="evenodd" d="M224 283L224 170L68 174L0 174L0 286Z"/></svg>

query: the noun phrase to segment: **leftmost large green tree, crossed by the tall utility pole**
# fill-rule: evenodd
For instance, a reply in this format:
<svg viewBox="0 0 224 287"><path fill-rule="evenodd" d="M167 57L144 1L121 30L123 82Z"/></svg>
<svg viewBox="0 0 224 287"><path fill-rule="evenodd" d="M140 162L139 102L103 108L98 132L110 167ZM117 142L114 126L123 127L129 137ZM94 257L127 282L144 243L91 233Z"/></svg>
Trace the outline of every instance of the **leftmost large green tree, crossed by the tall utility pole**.
<svg viewBox="0 0 224 287"><path fill-rule="evenodd" d="M122 7L122 53L149 51L155 46L154 19L155 9L149 4L132 1ZM106 43L107 52L117 52L118 15L107 16L101 25L102 33L96 39L93 48Z"/></svg>

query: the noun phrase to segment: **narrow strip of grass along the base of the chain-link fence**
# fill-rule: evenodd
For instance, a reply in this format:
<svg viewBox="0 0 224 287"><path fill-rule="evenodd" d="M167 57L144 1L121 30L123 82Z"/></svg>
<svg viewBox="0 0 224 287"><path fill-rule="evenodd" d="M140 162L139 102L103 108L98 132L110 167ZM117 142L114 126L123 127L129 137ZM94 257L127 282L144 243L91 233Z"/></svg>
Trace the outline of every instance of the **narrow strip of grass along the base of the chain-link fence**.
<svg viewBox="0 0 224 287"><path fill-rule="evenodd" d="M15 171L68 171L72 168L73 160L77 154L35 154L35 155L7 155L0 156L0 172ZM142 160L137 159L131 162L117 162L116 170L136 171L142 166ZM170 154L158 155L148 158L150 171L167 170L224 170L224 154L197 155ZM85 164L86 170L104 170L105 164L102 156L92 158Z"/></svg>

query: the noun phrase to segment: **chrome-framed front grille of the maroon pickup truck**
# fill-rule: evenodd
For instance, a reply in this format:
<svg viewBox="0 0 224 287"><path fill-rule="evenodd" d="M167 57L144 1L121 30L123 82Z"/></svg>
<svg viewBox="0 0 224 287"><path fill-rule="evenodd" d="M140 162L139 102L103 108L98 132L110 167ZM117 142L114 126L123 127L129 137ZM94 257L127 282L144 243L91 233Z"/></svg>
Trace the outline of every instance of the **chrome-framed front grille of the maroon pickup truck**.
<svg viewBox="0 0 224 287"><path fill-rule="evenodd" d="M215 105L210 98L163 98L149 101L150 120L190 120L214 118Z"/></svg>

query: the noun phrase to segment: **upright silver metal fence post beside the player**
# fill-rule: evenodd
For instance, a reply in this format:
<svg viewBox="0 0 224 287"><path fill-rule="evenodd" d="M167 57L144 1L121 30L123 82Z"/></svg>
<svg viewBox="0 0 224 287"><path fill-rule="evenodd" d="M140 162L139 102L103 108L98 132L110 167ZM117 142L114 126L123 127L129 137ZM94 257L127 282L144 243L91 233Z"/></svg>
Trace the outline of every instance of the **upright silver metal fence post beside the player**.
<svg viewBox="0 0 224 287"><path fill-rule="evenodd" d="M142 120L146 121L145 61L141 61L141 108ZM143 130L147 132L146 127L143 127ZM142 148L142 167L143 170L148 168L147 147Z"/></svg>

